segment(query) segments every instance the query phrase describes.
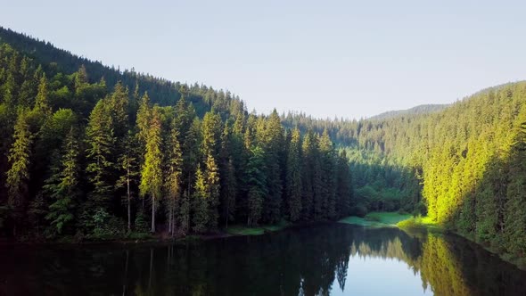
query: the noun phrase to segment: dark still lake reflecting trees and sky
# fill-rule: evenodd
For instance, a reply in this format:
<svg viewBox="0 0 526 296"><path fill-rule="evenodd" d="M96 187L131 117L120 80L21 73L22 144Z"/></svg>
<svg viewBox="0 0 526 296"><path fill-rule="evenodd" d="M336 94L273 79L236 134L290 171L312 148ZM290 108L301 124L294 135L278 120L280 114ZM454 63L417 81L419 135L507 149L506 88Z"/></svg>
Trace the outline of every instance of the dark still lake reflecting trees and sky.
<svg viewBox="0 0 526 296"><path fill-rule="evenodd" d="M201 243L0 247L0 295L526 295L455 236L327 224Z"/></svg>

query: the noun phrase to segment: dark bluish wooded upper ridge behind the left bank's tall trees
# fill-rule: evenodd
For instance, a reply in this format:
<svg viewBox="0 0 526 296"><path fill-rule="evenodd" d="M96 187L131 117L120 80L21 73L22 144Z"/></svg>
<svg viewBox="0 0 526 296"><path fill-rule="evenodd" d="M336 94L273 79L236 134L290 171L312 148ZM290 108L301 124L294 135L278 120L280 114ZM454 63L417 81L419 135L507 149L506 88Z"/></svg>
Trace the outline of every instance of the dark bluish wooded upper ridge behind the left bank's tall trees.
<svg viewBox="0 0 526 296"><path fill-rule="evenodd" d="M47 77L53 77L57 73L74 73L84 66L89 82L95 83L103 78L109 89L112 89L118 81L121 81L131 92L134 92L138 86L138 93L148 92L152 103L159 103L161 106L175 105L181 97L179 92L181 86L185 86L180 82L157 78L150 74L136 72L133 69L119 70L108 67L102 62L91 61L57 48L50 42L0 26L1 44L11 45L15 50L37 61L44 68ZM208 86L194 84L186 86L186 88L188 94L185 98L193 103L200 116L206 111L210 111L212 107L220 113L226 113L232 100L240 101L239 98L228 92L216 91Z"/></svg>

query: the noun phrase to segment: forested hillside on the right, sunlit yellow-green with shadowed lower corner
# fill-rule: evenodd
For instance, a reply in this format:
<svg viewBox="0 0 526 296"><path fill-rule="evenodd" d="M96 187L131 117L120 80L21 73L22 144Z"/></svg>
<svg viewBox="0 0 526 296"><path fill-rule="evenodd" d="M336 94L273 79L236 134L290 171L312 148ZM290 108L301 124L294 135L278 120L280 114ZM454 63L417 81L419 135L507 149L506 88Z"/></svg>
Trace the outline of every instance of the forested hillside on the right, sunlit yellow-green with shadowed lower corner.
<svg viewBox="0 0 526 296"><path fill-rule="evenodd" d="M401 201L433 221L499 252L526 254L526 82L490 87L431 114L284 120L327 129L351 151L358 206L393 196L382 190L404 193Z"/></svg>

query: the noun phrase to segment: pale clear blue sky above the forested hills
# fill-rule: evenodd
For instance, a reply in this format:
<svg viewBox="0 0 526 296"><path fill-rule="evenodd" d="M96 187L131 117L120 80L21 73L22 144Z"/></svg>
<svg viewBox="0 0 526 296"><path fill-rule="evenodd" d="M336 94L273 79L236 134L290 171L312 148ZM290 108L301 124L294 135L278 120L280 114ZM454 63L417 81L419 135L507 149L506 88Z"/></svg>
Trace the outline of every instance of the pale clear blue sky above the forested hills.
<svg viewBox="0 0 526 296"><path fill-rule="evenodd" d="M250 111L360 118L526 78L523 1L4 2L4 27Z"/></svg>

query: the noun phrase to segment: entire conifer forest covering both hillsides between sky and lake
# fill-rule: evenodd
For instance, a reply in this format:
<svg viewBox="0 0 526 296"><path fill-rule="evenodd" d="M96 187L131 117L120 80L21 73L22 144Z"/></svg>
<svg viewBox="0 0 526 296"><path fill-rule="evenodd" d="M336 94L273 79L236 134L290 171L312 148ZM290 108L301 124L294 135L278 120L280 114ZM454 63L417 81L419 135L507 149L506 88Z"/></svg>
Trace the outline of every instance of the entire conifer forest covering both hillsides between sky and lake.
<svg viewBox="0 0 526 296"><path fill-rule="evenodd" d="M3 235L210 233L398 210L526 255L525 82L447 107L313 119L248 112L230 92L9 29L0 43Z"/></svg>

